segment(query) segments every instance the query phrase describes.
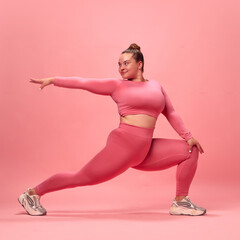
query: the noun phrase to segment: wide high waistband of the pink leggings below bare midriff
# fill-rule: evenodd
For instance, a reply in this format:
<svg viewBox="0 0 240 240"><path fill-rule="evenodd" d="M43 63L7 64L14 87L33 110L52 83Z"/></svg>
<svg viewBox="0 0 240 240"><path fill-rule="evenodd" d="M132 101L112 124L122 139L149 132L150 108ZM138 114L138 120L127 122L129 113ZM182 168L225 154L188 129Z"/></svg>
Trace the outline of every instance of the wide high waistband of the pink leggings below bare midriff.
<svg viewBox="0 0 240 240"><path fill-rule="evenodd" d="M119 128L126 130L130 134L134 134L140 137L152 137L154 128L145 128L140 126L131 125L125 122L119 123Z"/></svg>

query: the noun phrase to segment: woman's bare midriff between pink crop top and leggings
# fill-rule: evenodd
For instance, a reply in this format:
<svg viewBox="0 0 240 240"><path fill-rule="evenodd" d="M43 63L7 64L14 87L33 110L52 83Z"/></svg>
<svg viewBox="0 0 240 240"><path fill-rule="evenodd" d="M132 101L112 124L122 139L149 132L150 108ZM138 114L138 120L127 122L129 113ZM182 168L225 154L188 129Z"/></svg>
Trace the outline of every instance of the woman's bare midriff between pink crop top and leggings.
<svg viewBox="0 0 240 240"><path fill-rule="evenodd" d="M154 128L157 119L146 114L134 114L126 115L124 117L120 116L120 121L134 126Z"/></svg>

